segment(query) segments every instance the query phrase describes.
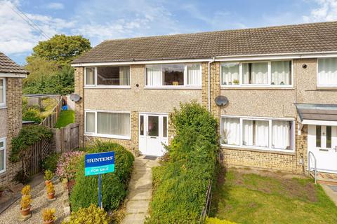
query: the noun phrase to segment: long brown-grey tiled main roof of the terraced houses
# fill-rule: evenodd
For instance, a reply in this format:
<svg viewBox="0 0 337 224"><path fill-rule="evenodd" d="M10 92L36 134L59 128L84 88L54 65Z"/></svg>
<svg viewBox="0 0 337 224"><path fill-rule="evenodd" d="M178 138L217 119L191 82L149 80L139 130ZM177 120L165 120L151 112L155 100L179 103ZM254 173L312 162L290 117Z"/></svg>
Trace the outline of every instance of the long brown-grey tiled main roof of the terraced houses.
<svg viewBox="0 0 337 224"><path fill-rule="evenodd" d="M337 51L337 22L103 41L74 63Z"/></svg>

